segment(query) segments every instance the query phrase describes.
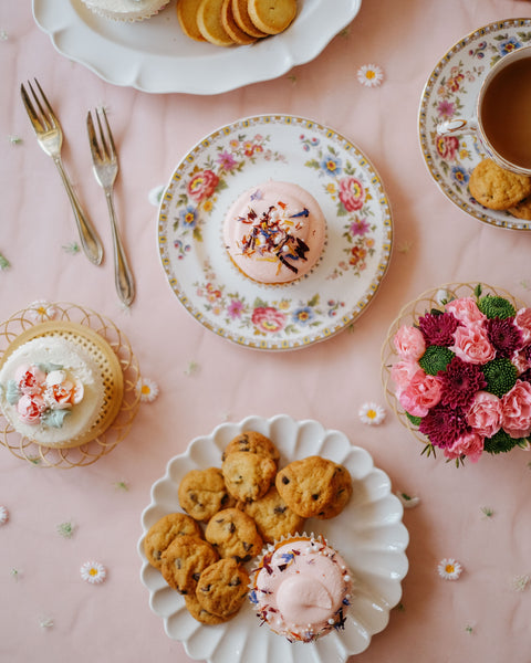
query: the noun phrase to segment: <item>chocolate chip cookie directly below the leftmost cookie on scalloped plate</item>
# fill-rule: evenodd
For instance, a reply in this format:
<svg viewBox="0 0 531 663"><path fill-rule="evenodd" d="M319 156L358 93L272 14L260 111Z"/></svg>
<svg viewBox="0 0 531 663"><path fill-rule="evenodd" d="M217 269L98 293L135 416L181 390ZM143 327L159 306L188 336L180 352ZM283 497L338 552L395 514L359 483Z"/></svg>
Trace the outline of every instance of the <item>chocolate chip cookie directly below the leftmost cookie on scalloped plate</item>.
<svg viewBox="0 0 531 663"><path fill-rule="evenodd" d="M162 556L160 572L166 582L183 594L194 593L202 571L218 561L214 546L196 536L178 536Z"/></svg>

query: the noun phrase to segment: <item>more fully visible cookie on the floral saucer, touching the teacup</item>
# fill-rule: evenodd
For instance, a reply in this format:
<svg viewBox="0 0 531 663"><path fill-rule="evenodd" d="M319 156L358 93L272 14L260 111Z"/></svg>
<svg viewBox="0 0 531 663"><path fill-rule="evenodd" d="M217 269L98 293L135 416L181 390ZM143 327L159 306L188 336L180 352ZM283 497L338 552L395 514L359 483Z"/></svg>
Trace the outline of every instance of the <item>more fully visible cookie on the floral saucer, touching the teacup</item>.
<svg viewBox="0 0 531 663"><path fill-rule="evenodd" d="M472 170L468 188L483 207L508 210L531 193L531 178L506 170L492 159L483 159Z"/></svg>

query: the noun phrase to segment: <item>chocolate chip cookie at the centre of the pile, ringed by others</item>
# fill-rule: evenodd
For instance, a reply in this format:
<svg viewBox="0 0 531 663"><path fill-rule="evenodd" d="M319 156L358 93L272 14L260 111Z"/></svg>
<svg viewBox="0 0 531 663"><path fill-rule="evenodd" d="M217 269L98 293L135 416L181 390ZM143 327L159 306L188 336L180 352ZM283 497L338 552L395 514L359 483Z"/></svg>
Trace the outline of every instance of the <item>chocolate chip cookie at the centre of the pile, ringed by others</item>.
<svg viewBox="0 0 531 663"><path fill-rule="evenodd" d="M226 508L210 518L205 538L220 557L233 557L238 562L249 561L262 548L254 520L238 508Z"/></svg>

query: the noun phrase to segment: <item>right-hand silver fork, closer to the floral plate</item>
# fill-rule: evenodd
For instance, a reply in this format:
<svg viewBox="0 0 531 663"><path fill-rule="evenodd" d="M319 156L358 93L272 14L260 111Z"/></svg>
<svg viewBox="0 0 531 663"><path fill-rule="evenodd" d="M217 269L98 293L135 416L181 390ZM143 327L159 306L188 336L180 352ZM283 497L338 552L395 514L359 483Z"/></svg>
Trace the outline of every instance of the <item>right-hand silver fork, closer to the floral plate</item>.
<svg viewBox="0 0 531 663"><path fill-rule="evenodd" d="M113 134L111 133L111 127L108 126L105 108L102 108L101 113L95 110L94 115L96 117L98 136L96 136L91 112L88 110L86 115L86 129L88 131L88 141L91 144L94 175L97 182L105 191L108 214L111 217L111 230L113 233L114 250L114 280L116 283L116 291L122 302L128 306L135 297L135 282L127 262L127 256L122 245L122 240L119 238L113 199L114 181L118 172L118 157L116 156ZM103 117L105 130L102 126L100 116Z"/></svg>

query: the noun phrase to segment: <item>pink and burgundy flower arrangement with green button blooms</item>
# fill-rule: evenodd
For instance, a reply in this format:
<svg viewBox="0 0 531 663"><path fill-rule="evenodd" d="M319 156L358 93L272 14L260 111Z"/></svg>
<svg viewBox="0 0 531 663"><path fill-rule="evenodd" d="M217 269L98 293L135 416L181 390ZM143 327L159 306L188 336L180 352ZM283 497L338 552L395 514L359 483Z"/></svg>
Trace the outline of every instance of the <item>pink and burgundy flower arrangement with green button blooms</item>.
<svg viewBox="0 0 531 663"><path fill-rule="evenodd" d="M468 286L469 288L471 286ZM485 293L439 291L436 306L389 333L394 398L409 428L459 465L530 448L531 308Z"/></svg>

